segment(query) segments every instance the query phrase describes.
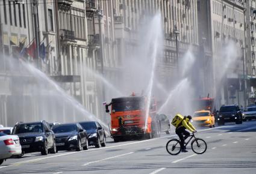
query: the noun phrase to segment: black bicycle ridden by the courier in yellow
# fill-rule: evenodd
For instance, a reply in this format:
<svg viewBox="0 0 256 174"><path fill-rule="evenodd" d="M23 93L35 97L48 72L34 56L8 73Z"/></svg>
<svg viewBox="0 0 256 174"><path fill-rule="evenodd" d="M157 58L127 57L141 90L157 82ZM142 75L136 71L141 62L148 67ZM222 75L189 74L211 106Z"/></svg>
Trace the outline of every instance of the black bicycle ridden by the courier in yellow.
<svg viewBox="0 0 256 174"><path fill-rule="evenodd" d="M192 140L191 142L191 148L192 151L195 152L196 154L204 154L204 152L207 149L207 143L203 140L203 139L199 139L197 137L195 137L195 134L192 133L192 135L189 136L190 139L187 141L187 143L185 142L184 146L186 148L186 146L189 144L190 140ZM189 138L187 137L187 139ZM178 139L171 139L166 143L166 151L170 154L170 155L178 155L181 152L181 142Z"/></svg>

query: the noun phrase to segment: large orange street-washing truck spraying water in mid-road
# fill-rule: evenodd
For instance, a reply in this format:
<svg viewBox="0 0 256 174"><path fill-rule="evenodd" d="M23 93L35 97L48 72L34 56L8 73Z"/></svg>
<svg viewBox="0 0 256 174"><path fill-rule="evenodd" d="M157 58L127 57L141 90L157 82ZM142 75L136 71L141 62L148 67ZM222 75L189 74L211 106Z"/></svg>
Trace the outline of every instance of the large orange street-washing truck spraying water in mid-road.
<svg viewBox="0 0 256 174"><path fill-rule="evenodd" d="M146 116L147 98L145 96L130 96L112 98L111 103L105 105L106 112L111 106L111 137L114 142L125 140L128 137L143 137L151 139L154 136L152 131L152 116L156 114L156 104L151 98L149 114ZM146 119L148 121L146 122ZM146 122L146 124L145 124Z"/></svg>

